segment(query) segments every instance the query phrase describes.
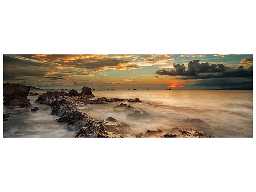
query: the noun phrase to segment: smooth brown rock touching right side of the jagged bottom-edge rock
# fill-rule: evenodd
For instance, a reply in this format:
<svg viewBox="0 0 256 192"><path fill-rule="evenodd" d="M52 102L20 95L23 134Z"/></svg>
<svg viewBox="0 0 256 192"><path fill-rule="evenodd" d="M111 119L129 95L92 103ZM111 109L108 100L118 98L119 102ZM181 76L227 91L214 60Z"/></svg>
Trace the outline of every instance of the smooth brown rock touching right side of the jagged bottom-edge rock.
<svg viewBox="0 0 256 192"><path fill-rule="evenodd" d="M118 122L113 117L108 117L103 123L109 132L125 134L131 131L130 125L124 122Z"/></svg>

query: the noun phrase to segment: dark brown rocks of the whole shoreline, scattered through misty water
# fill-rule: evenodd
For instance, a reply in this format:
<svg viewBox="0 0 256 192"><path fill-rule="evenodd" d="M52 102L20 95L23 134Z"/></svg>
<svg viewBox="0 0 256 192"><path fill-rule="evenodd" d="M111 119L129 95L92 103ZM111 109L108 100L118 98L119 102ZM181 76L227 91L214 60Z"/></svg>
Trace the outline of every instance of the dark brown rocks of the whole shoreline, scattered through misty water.
<svg viewBox="0 0 256 192"><path fill-rule="evenodd" d="M32 108L28 95L37 95L36 93L29 92L29 86L20 84L4 84L4 105L17 106L31 108L31 111L38 111L39 108ZM94 100L88 100L94 97L91 88L84 86L82 92L79 93L76 90L64 91L48 91L38 96L36 102L39 104L46 104L51 106L52 115L59 116L57 122L67 123L65 128L69 131L77 131L76 137L210 137L206 133L194 129L185 127L172 128L170 132L164 132L161 129L149 129L147 132L139 134L131 133L131 127L124 122L118 122L113 117L108 117L106 120L97 120L86 113L82 113L79 110L79 106L86 106L88 104L106 104L109 102L122 102L128 101L131 103L142 102L139 98L135 99L120 99L105 97L97 98ZM147 103L149 104L149 103ZM93 110L88 108L88 110ZM113 108L113 111L127 111L128 119L147 119L152 118L146 111L132 107L131 105L121 103ZM9 117L8 114L4 114L4 119ZM202 120L184 119L183 123L199 122L204 124ZM206 124L206 123L205 123ZM208 124L207 124L208 125ZM209 125L210 126L210 125Z"/></svg>

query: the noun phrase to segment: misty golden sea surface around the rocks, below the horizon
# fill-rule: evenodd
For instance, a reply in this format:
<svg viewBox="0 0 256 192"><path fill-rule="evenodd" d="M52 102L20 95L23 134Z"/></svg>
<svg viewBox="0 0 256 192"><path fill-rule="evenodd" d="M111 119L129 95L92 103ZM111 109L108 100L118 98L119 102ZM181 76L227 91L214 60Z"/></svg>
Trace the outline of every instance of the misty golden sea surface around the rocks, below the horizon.
<svg viewBox="0 0 256 192"><path fill-rule="evenodd" d="M42 94L46 91L31 90ZM77 90L81 92L81 90ZM129 112L114 112L113 107L122 102L108 105L91 104L95 109L88 112L85 106L78 107L82 112L101 120L114 117L117 121L130 124L133 133L145 133L148 129L162 129L168 132L179 126L182 119L201 119L211 125L204 129L213 137L252 137L252 90L92 90L96 99L139 98L143 103L128 103L145 110L154 118L147 120L127 120ZM33 107L40 111L31 112L26 108L4 106L4 113L12 113L10 121L4 121L4 137L75 137L76 132L67 131L65 124L58 123L58 116L51 115L51 107L35 103L38 96L28 96ZM147 102L155 104L148 105Z"/></svg>

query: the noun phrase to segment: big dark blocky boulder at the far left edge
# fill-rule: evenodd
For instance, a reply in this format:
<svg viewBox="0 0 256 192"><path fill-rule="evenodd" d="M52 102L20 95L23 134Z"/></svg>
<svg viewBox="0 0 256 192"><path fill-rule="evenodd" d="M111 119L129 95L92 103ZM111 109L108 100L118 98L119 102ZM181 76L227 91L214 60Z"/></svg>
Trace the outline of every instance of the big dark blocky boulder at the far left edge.
<svg viewBox="0 0 256 192"><path fill-rule="evenodd" d="M17 106L24 98L28 97L29 86L15 83L4 84L4 105Z"/></svg>

